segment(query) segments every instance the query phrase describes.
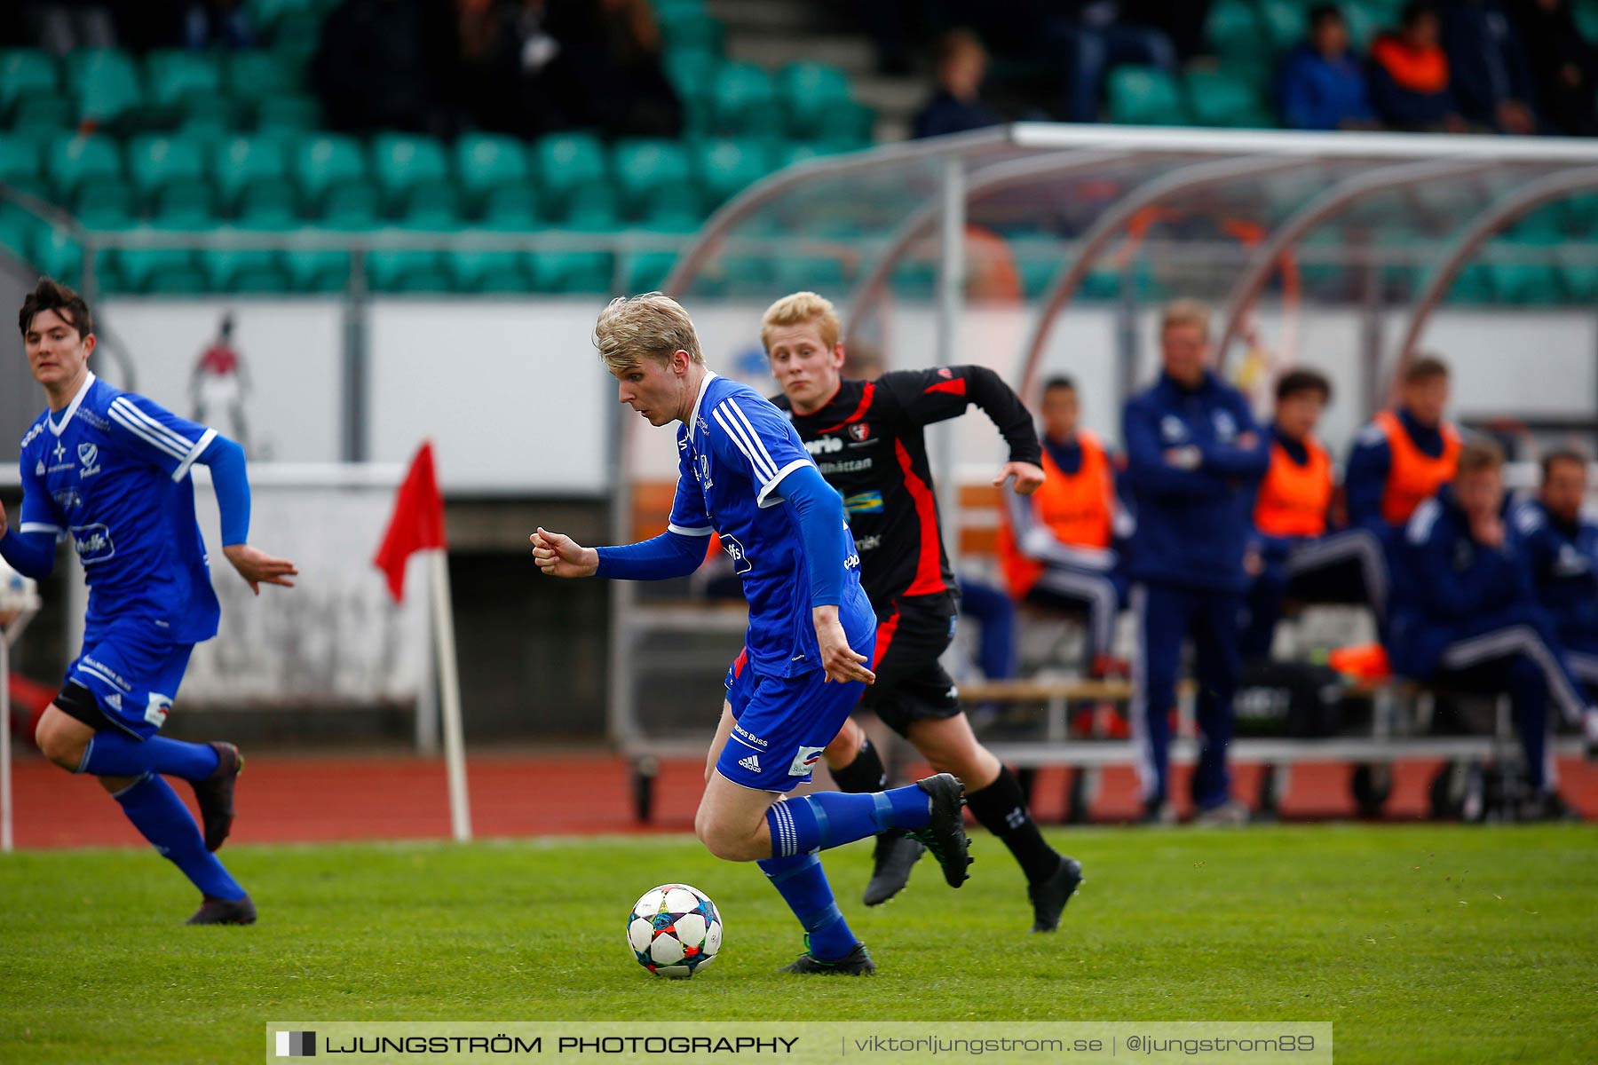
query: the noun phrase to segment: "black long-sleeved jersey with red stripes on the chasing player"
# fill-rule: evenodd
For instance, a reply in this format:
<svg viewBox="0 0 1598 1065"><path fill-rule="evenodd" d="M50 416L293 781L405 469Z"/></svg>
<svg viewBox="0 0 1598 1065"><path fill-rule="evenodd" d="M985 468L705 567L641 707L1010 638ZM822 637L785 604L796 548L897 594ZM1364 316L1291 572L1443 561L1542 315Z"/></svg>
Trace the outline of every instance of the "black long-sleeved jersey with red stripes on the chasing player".
<svg viewBox="0 0 1598 1065"><path fill-rule="evenodd" d="M821 476L842 493L860 549L860 584L879 608L904 596L954 594L924 426L976 406L1010 444L1012 461L1042 461L1020 396L981 366L844 380L807 415L794 414L786 396L772 402L788 412Z"/></svg>

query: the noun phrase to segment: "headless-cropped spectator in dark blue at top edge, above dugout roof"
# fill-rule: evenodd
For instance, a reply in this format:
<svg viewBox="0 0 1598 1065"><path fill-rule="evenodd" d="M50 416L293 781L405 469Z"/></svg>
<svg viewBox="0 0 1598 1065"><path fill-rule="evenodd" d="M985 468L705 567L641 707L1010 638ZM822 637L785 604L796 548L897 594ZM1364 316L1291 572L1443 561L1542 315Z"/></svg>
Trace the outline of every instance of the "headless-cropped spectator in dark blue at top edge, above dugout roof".
<svg viewBox="0 0 1598 1065"><path fill-rule="evenodd" d="M1176 73L1171 38L1152 26L1131 22L1115 0L1066 0L1048 5L1042 40L1071 61L1067 121L1098 121L1104 73L1123 62Z"/></svg>

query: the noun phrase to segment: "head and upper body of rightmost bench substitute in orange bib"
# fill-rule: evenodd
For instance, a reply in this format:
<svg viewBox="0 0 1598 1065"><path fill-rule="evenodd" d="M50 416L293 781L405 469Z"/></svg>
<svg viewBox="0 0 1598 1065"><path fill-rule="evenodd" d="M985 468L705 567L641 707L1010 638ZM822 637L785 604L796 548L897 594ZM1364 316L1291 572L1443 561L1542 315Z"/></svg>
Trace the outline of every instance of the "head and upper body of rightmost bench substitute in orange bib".
<svg viewBox="0 0 1598 1065"><path fill-rule="evenodd" d="M1342 479L1350 525L1397 532L1454 476L1461 437L1443 422L1446 406L1448 366L1419 356L1403 370L1398 406L1377 412L1354 441Z"/></svg>

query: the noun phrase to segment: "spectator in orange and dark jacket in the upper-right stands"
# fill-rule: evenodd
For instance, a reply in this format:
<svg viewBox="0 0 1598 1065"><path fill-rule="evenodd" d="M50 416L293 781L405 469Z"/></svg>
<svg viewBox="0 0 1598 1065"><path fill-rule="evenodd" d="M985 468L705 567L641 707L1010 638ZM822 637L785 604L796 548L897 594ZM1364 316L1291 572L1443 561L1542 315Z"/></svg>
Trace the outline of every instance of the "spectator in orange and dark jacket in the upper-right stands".
<svg viewBox="0 0 1598 1065"><path fill-rule="evenodd" d="M1441 18L1430 3L1408 3L1395 32L1371 43L1366 64L1376 117L1395 129L1464 133L1443 51Z"/></svg>

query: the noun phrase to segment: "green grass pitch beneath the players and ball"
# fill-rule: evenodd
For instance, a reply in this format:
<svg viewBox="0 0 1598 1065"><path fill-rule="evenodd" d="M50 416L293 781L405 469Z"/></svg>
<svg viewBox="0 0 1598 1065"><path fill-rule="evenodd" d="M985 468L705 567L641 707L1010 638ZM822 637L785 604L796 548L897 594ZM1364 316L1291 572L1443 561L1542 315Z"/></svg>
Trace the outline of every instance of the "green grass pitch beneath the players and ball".
<svg viewBox="0 0 1598 1065"><path fill-rule="evenodd" d="M869 980L780 976L797 928L754 865L687 838L237 846L260 924L182 928L147 851L0 857L0 1057L252 1062L267 1020L1331 1020L1339 1062L1598 1060L1590 827L1082 830L1088 883L1029 936L1015 864L925 861L858 904L869 845L826 856ZM630 956L628 905L687 881L722 909L686 982Z"/></svg>

